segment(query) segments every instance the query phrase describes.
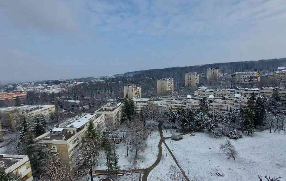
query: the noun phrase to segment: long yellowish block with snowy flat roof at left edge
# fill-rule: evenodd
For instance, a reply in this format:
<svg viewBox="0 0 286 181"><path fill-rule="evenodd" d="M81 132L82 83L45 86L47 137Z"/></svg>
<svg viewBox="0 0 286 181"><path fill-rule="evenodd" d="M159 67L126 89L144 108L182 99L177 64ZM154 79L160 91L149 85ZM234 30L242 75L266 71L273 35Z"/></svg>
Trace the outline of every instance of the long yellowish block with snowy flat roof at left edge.
<svg viewBox="0 0 286 181"><path fill-rule="evenodd" d="M0 107L1 123L2 126L12 127L13 129L20 125L17 123L17 117L19 114L23 114L28 117L44 115L48 116L55 111L55 105L35 105L35 106L18 106L18 107Z"/></svg>

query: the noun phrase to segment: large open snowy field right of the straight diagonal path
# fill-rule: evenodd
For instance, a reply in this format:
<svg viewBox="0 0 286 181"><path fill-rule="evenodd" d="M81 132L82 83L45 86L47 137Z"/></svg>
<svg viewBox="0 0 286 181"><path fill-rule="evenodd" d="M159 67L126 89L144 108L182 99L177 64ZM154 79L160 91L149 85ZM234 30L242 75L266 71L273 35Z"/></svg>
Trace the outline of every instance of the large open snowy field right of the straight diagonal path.
<svg viewBox="0 0 286 181"><path fill-rule="evenodd" d="M220 143L230 140L238 151L238 158L228 159L219 149ZM212 138L208 133L197 132L196 136L184 135L174 141L173 154L190 179L194 180L257 180L257 175L268 175L286 179L286 136L284 134L256 132L238 140L227 137ZM166 140L172 149L172 141ZM215 147L209 149L209 147ZM215 171L222 171L219 177Z"/></svg>

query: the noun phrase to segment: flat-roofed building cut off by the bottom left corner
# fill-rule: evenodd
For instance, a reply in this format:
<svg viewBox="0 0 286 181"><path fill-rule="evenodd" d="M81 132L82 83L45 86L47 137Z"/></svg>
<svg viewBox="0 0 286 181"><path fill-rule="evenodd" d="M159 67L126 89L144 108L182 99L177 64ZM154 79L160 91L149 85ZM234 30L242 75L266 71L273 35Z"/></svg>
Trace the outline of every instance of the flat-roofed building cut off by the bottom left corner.
<svg viewBox="0 0 286 181"><path fill-rule="evenodd" d="M22 181L33 181L29 156L1 154L0 169L4 169L5 173L19 174Z"/></svg>

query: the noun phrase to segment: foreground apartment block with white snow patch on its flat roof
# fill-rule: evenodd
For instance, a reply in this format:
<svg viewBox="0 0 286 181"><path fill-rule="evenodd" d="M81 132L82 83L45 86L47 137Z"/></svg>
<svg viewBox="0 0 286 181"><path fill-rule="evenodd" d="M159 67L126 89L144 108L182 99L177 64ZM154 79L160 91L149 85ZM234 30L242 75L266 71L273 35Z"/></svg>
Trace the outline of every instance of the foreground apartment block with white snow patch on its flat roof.
<svg viewBox="0 0 286 181"><path fill-rule="evenodd" d="M88 122L92 121L96 128L104 131L105 118L105 114L81 114L35 139L54 156L58 156L62 162L72 167L73 155L81 147L81 140L86 135Z"/></svg>

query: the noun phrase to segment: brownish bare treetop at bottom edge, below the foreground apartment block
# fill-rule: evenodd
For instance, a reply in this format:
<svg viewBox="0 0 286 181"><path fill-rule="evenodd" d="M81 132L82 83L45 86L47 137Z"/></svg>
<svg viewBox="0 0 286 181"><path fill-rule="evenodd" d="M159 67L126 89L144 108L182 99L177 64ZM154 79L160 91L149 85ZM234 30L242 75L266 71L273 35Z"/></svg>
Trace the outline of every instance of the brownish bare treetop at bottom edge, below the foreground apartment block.
<svg viewBox="0 0 286 181"><path fill-rule="evenodd" d="M39 181L73 181L76 180L70 168L57 157L51 158L41 168L43 174Z"/></svg>

